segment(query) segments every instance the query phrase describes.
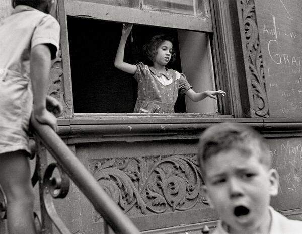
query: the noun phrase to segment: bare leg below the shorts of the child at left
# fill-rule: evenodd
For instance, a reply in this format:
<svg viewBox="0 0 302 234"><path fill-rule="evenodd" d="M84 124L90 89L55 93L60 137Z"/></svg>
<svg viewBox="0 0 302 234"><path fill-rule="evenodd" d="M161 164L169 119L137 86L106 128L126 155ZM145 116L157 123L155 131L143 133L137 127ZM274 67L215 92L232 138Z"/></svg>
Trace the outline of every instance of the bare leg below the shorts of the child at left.
<svg viewBox="0 0 302 234"><path fill-rule="evenodd" d="M10 234L36 233L34 193L30 166L23 150L0 154L0 185L7 197L7 224Z"/></svg>

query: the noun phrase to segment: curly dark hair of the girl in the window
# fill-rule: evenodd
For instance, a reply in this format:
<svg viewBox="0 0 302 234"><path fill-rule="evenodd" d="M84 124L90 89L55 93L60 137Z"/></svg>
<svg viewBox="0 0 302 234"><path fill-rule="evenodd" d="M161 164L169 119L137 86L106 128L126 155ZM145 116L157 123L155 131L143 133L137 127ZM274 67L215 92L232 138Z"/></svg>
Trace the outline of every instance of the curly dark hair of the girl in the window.
<svg viewBox="0 0 302 234"><path fill-rule="evenodd" d="M170 41L173 45L174 43L174 39L173 37L167 35L167 34L158 34L154 37L151 38L151 40L145 44L142 47L142 50L144 52L144 55L153 62L154 58L157 55L157 49L160 47L160 45L164 42L164 41ZM174 49L172 49L172 55L171 55L171 59L170 62L173 63L176 59L176 54Z"/></svg>

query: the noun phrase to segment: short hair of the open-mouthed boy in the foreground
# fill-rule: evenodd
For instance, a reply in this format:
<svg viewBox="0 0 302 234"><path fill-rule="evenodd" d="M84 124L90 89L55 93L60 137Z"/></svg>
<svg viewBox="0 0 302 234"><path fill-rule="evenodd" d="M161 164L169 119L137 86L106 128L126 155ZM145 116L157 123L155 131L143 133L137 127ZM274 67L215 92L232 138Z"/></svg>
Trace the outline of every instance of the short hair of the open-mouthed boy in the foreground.
<svg viewBox="0 0 302 234"><path fill-rule="evenodd" d="M253 128L243 123L221 123L207 128L199 140L197 161L203 176L206 175L206 161L214 155L237 149L243 155L256 152L259 162L271 167L271 154L266 140Z"/></svg>

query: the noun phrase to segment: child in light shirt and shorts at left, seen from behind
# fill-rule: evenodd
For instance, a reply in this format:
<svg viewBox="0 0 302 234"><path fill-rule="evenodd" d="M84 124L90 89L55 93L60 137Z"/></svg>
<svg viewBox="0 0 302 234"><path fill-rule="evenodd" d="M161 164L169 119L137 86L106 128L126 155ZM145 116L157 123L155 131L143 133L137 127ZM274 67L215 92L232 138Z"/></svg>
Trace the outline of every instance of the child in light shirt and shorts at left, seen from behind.
<svg viewBox="0 0 302 234"><path fill-rule="evenodd" d="M12 14L0 21L0 185L7 198L10 234L36 233L33 217L28 128L32 115L57 130L61 105L47 97L51 59L60 26L48 13L54 0L13 0Z"/></svg>

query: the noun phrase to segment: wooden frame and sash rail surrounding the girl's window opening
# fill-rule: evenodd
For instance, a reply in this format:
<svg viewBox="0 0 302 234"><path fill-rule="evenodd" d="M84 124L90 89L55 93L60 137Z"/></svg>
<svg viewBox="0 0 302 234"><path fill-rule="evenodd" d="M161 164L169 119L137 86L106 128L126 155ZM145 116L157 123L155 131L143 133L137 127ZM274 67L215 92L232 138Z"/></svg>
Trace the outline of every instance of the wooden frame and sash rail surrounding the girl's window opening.
<svg viewBox="0 0 302 234"><path fill-rule="evenodd" d="M234 48L233 16L231 19L231 3L229 1L209 0L211 14L206 12L206 17L194 17L182 14L172 14L158 11L145 11L135 8L111 6L94 2L85 2L78 0L59 1L59 21L61 24L61 47L62 47L62 67L64 73L64 94L68 100L70 112L69 117L85 116L85 114L73 113L72 102L72 83L70 70L70 56L68 46L68 33L66 16L99 19L112 22L129 22L133 24L145 24L175 29L185 29L211 33L213 49L213 66L215 79L219 89L227 92L228 95L218 97L218 108L222 115L220 117L238 118L245 117L242 110L242 102L238 84L238 60L236 60L236 48ZM235 21L238 19L235 19ZM164 22L164 23L163 23ZM231 32L231 33L230 33ZM237 36L237 35L236 35ZM68 112L68 111L67 111ZM91 114L90 114L91 115ZM128 117L136 118L137 114L126 113ZM87 115L88 116L88 115ZM110 119L112 116L123 118L120 113L95 113L94 116ZM147 118L155 119L166 117L164 115L148 114ZM190 119L192 116L205 118L204 114L185 113ZM66 117L66 116L65 116ZM184 118L184 113L171 115L173 119ZM214 115L209 115L209 118Z"/></svg>

